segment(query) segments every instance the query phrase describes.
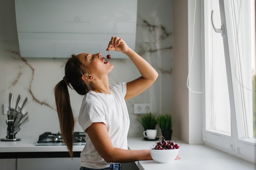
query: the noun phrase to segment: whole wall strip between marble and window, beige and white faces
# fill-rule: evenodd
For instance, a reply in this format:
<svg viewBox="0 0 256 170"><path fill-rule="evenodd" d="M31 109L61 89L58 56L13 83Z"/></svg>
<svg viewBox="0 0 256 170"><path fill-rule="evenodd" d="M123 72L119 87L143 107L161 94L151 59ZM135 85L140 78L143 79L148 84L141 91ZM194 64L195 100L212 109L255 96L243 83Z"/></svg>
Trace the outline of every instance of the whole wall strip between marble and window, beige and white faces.
<svg viewBox="0 0 256 170"><path fill-rule="evenodd" d="M177 131L173 135L189 144L203 143L204 93L194 93L186 85L189 74L189 87L195 92L203 90L201 3L201 0L196 0L195 12L195 0L173 0L173 114L177 118L174 124ZM193 60L189 73L192 48Z"/></svg>

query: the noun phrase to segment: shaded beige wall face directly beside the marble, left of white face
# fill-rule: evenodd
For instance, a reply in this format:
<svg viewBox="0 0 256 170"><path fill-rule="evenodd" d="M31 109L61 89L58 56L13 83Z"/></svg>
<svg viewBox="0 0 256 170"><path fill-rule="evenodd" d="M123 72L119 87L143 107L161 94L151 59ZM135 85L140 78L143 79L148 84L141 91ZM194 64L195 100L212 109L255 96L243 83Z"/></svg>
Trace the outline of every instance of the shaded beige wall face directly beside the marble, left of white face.
<svg viewBox="0 0 256 170"><path fill-rule="evenodd" d="M173 0L173 114L176 117L173 136L189 142L188 75L188 2Z"/></svg>

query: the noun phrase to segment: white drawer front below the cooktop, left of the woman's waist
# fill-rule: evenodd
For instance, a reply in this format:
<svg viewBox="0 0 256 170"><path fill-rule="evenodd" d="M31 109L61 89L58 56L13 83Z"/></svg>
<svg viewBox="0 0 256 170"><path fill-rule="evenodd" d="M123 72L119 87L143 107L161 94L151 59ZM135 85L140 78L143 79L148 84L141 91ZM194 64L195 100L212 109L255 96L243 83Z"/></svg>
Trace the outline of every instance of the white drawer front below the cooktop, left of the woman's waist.
<svg viewBox="0 0 256 170"><path fill-rule="evenodd" d="M17 170L79 170L80 157L69 158L18 158ZM11 170L11 169L10 169Z"/></svg>

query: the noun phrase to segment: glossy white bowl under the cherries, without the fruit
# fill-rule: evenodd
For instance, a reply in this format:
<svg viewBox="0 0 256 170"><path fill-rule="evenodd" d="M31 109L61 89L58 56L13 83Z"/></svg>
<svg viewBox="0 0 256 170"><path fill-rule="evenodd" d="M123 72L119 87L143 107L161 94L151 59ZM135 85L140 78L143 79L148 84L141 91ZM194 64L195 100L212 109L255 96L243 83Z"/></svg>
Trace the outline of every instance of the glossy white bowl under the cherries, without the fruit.
<svg viewBox="0 0 256 170"><path fill-rule="evenodd" d="M157 150L157 149L149 149L151 157L157 163L169 163L173 161L180 149L165 149L165 150Z"/></svg>

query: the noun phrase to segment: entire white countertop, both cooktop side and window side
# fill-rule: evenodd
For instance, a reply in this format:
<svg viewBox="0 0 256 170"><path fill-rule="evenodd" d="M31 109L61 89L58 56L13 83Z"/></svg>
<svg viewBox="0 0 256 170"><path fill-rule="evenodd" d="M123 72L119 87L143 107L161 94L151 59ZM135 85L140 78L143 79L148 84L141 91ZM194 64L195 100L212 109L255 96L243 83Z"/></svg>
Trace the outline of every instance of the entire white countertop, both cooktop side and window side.
<svg viewBox="0 0 256 170"><path fill-rule="evenodd" d="M38 137L22 138L16 142L0 141L0 153L29 152L67 152L62 146L36 146ZM179 142L177 141L179 144ZM155 141L145 141L142 137L128 138L128 148L132 150L149 149ZM74 152L81 152L84 145L74 146ZM153 160L136 161L139 170L177 169L177 170L255 170L256 165L204 144L182 143L178 155L182 158L171 163L156 163Z"/></svg>

